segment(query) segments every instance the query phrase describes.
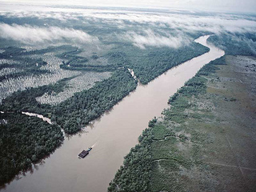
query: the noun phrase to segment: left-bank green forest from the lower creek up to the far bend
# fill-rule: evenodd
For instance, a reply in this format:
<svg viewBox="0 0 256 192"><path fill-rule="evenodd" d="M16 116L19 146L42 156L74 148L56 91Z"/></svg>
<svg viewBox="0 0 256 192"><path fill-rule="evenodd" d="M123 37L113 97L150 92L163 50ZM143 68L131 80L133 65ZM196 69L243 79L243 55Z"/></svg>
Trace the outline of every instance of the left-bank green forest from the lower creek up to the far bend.
<svg viewBox="0 0 256 192"><path fill-rule="evenodd" d="M27 88L24 91L18 90L3 99L1 109L3 111L30 111L43 114L62 126L67 134L74 134L78 130L81 130L82 126L100 117L106 110L110 110L112 106L136 88L137 82L131 77L127 68L134 69L140 81L146 84L171 67L177 66L181 62L185 62L209 50L205 46L201 46L195 42L191 43L190 46L184 46L178 50L168 47L141 50L130 44L125 44L125 46L121 47L114 48L100 57L93 53L91 58L79 56L78 54L82 53L82 50L75 46L49 46L46 49L32 51L18 49L17 47L6 48L2 52L2 58L10 58L10 56L17 59L22 58L27 61L22 60L22 63L27 64L24 72L5 75L2 77L2 80L27 75L30 72L36 72L36 74L47 73L47 70L39 69L42 65L46 65L46 62L43 62L41 58L34 60L34 58L27 58L26 56L30 54L46 54L49 52L54 52L58 58L63 59L61 67L65 70L114 72L111 78L96 83L90 90L84 90L74 94L72 98L56 106L40 104L36 98L41 97L43 94L58 94L62 92L66 83L75 77L64 78L47 86ZM108 63L106 65L91 65L89 63L90 59L98 60L99 58L106 58Z"/></svg>

